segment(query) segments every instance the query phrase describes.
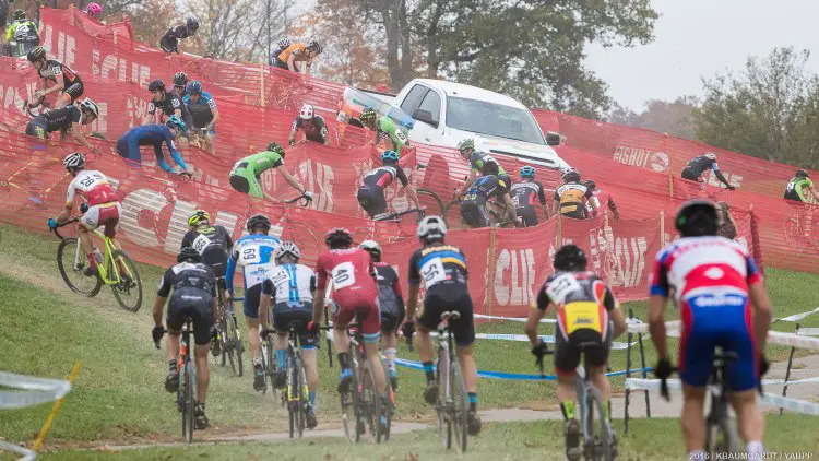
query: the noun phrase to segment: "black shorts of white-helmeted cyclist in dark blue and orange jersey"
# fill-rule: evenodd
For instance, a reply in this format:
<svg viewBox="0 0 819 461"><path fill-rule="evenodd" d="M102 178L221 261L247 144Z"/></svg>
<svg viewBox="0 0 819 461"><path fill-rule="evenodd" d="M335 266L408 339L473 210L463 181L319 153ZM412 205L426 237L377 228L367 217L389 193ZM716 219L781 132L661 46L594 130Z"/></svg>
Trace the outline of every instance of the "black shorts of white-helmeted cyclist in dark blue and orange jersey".
<svg viewBox="0 0 819 461"><path fill-rule="evenodd" d="M461 314L458 320L450 320L449 328L455 336L455 343L467 346L475 342L475 324L473 323L472 298L466 287L461 288L461 296L453 296L449 286L438 285L427 291L424 298L424 312L418 318L418 323L428 330L438 328L441 322L441 314L448 310L456 310Z"/></svg>

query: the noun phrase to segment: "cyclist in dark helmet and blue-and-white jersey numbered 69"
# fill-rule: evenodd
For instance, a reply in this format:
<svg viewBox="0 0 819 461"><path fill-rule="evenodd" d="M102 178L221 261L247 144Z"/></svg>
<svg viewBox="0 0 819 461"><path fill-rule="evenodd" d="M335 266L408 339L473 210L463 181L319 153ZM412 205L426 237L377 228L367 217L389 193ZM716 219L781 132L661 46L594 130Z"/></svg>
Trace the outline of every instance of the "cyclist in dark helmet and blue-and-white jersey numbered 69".
<svg viewBox="0 0 819 461"><path fill-rule="evenodd" d="M236 264L241 265L245 274L245 321L248 326L248 343L250 344L250 356L253 359L253 389L264 390L264 370L262 370L261 340L259 338L259 307L265 304L264 310L270 308L270 295L273 293L273 283L270 274L275 269L276 262L273 255L278 248L278 237L268 235L270 233L270 220L268 216L257 214L248 220L248 235L236 240L234 251L227 260L225 272L225 286L227 292L234 294L234 272Z"/></svg>

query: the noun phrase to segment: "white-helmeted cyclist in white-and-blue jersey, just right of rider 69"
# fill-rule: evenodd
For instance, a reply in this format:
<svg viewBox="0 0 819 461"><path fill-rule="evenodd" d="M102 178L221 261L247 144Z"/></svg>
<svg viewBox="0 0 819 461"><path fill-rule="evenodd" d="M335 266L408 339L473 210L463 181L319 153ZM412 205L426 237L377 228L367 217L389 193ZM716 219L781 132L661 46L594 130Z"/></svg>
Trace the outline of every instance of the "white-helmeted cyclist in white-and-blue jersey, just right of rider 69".
<svg viewBox="0 0 819 461"><path fill-rule="evenodd" d="M305 365L307 378L308 405L306 409L306 422L309 429L318 425L316 419L316 391L319 388L319 363L316 354L316 334L308 330L307 326L312 320L312 296L316 292L316 272L307 265L299 264L301 250L293 241L282 241L276 249L276 268L270 279L273 283L273 326L275 338L273 345L276 350L276 378L275 386L278 389L285 387L287 381L287 341L289 326L295 322L298 326L298 341L301 344L301 358ZM266 304L262 304L259 317L262 323L262 335L272 333L266 312Z"/></svg>

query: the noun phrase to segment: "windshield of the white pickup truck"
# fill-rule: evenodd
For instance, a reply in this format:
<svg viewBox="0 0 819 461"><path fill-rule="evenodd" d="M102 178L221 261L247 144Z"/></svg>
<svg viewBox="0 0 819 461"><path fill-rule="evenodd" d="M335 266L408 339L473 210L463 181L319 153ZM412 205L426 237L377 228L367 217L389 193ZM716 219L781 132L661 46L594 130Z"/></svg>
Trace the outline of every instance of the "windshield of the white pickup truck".
<svg viewBox="0 0 819 461"><path fill-rule="evenodd" d="M529 110L485 101L449 97L447 125L462 131L546 144Z"/></svg>

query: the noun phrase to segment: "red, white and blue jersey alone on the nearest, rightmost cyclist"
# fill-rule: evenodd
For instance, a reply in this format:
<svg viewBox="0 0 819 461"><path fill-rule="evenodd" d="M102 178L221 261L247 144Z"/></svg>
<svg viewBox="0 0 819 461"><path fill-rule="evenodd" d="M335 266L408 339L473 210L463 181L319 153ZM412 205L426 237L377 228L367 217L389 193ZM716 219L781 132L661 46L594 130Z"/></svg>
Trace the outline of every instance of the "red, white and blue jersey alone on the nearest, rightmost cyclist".
<svg viewBox="0 0 819 461"><path fill-rule="evenodd" d="M651 294L691 307L747 302L762 275L739 244L724 237L684 237L657 253Z"/></svg>

